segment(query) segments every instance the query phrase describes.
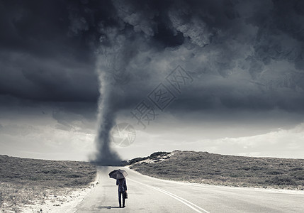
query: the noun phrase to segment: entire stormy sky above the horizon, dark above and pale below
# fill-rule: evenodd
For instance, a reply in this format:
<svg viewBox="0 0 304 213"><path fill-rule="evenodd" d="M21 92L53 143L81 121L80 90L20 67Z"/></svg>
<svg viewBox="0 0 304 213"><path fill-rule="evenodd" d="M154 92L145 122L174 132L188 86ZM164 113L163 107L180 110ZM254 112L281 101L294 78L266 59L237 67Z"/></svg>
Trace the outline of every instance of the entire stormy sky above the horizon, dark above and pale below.
<svg viewBox="0 0 304 213"><path fill-rule="evenodd" d="M0 154L304 158L303 23L303 1L0 1Z"/></svg>

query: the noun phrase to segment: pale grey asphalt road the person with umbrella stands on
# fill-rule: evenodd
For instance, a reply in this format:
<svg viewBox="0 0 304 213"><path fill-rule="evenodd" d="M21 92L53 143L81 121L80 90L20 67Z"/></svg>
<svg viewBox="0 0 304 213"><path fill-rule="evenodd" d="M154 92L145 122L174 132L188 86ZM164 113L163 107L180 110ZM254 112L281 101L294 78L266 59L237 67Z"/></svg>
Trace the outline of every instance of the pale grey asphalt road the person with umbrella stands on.
<svg viewBox="0 0 304 213"><path fill-rule="evenodd" d="M116 167L98 168L99 184L76 207L86 212L304 212L304 192L221 187L159 180L128 168L128 200L118 208Z"/></svg>

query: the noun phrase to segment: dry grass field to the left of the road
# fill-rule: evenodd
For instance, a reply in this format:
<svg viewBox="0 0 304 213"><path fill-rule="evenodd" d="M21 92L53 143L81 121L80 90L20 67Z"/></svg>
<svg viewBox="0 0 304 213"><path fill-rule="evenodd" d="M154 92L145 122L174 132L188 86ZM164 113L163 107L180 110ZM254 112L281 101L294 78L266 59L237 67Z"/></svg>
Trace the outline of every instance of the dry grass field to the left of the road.
<svg viewBox="0 0 304 213"><path fill-rule="evenodd" d="M20 212L33 202L87 187L96 166L77 161L34 160L0 155L1 212Z"/></svg>

